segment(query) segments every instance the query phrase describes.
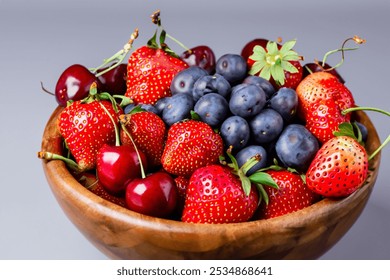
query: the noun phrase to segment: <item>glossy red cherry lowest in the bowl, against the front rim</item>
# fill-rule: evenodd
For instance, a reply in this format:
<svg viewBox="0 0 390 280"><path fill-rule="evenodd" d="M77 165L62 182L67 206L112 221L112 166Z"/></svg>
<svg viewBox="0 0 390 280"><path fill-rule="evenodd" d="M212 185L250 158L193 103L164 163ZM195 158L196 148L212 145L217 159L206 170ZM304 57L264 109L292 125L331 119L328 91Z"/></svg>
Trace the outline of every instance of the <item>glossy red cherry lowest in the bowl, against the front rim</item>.
<svg viewBox="0 0 390 280"><path fill-rule="evenodd" d="M130 181L126 187L125 199L130 210L165 218L176 209L178 193L171 175L158 171L145 178Z"/></svg>

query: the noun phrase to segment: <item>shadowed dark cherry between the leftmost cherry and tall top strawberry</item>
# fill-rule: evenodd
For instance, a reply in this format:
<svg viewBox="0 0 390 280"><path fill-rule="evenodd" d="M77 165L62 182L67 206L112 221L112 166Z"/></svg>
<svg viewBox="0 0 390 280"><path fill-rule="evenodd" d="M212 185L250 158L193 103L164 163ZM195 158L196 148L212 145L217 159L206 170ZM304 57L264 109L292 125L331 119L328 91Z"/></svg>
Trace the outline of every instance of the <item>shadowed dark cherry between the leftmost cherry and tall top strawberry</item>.
<svg viewBox="0 0 390 280"><path fill-rule="evenodd" d="M106 69L103 68L99 72ZM102 84L102 91L106 91L111 95L124 95L126 93L127 64L121 63L100 76L99 72L97 76Z"/></svg>

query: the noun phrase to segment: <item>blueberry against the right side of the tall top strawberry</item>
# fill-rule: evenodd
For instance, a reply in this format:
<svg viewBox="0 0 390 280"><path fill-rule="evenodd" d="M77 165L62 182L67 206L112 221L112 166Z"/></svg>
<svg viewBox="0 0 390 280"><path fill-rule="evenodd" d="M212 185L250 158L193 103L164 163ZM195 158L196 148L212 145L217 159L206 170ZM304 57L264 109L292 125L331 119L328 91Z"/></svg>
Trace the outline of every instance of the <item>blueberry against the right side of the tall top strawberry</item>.
<svg viewBox="0 0 390 280"><path fill-rule="evenodd" d="M208 75L208 73L199 66L191 66L180 71L172 79L170 86L172 95L177 93L192 94L192 88L194 87L195 82L205 75Z"/></svg>

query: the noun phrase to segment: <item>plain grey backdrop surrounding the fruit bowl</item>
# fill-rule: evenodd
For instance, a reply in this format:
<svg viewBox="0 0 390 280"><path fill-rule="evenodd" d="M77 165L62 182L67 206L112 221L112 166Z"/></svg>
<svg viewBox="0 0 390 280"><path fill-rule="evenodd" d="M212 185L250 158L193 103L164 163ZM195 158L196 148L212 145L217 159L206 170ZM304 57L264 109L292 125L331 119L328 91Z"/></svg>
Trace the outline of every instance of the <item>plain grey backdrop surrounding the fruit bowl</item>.
<svg viewBox="0 0 390 280"><path fill-rule="evenodd" d="M36 157L56 107L40 81L54 89L67 66L99 65L135 27L141 46L155 30L149 15L156 9L170 34L190 47L209 45L217 57L280 36L297 38L295 49L310 61L358 34L367 43L347 53L340 72L358 104L390 109L388 0L0 0L0 259L106 259L63 214ZM389 119L369 116L384 140ZM387 147L364 213L323 259L390 259L389 155Z"/></svg>

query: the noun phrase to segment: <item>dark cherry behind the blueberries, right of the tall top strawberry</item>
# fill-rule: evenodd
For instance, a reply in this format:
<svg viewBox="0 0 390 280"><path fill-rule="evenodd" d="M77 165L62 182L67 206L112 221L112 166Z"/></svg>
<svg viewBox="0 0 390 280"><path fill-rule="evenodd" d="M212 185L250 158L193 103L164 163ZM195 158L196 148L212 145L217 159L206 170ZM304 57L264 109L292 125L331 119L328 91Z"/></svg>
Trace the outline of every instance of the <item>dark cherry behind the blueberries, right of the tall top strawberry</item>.
<svg viewBox="0 0 390 280"><path fill-rule="evenodd" d="M215 54L208 46L197 46L183 52L180 58L189 66L199 66L206 70L209 74L215 72Z"/></svg>

